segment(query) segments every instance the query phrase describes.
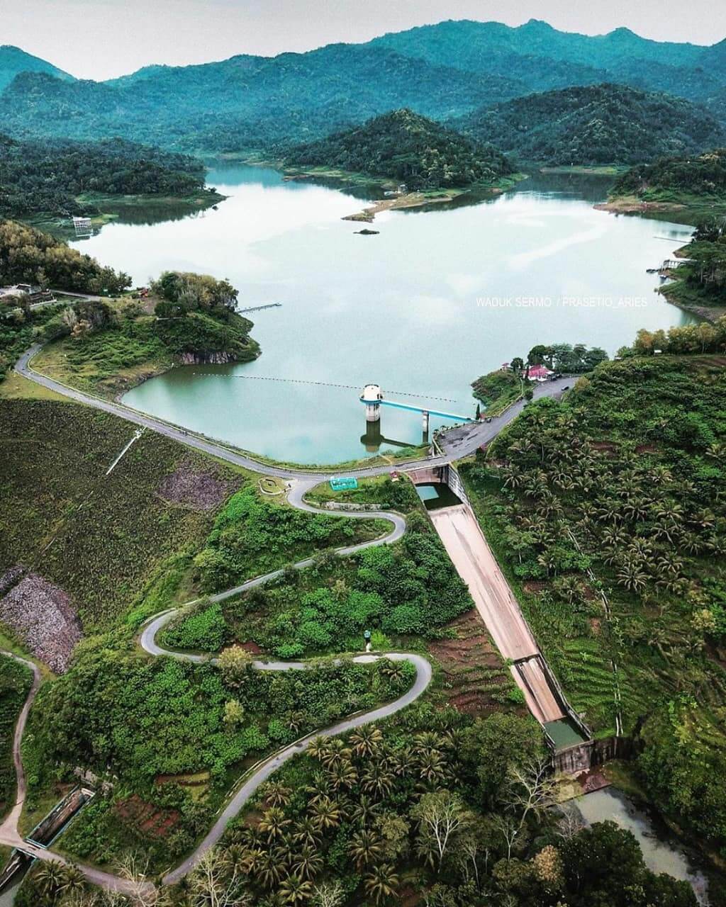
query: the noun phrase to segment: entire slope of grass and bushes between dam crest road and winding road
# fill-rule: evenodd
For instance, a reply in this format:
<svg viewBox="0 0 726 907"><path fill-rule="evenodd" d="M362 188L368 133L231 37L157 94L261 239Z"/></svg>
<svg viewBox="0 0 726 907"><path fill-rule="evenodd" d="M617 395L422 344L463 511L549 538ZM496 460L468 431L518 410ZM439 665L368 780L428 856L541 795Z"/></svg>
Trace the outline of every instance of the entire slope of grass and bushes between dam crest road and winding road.
<svg viewBox="0 0 726 907"><path fill-rule="evenodd" d="M151 432L107 476L133 434L81 406L0 401L0 575L31 567L71 597L86 631L134 603L145 616L189 600L194 577L232 586L383 528L258 498L246 473Z"/></svg>

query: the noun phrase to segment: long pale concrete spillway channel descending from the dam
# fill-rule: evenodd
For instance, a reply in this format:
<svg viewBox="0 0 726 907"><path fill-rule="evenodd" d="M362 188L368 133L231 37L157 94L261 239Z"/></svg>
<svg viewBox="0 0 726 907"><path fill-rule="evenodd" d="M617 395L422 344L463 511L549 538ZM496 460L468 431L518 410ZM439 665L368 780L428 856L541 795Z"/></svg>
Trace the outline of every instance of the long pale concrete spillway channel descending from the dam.
<svg viewBox="0 0 726 907"><path fill-rule="evenodd" d="M448 556L466 582L476 610L503 658L530 712L544 728L554 764L567 772L590 767L592 735L569 705L529 629L452 466L408 473L417 486L448 489L443 506L427 501L427 511ZM455 501L452 503L452 499Z"/></svg>

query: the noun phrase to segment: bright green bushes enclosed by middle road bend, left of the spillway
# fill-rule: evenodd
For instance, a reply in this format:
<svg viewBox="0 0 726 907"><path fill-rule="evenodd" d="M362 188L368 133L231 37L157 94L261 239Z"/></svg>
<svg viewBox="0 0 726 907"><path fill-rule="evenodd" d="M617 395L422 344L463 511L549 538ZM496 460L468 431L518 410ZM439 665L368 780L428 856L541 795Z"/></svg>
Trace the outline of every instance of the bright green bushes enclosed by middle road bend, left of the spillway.
<svg viewBox="0 0 726 907"><path fill-rule="evenodd" d="M197 561L203 569L204 552ZM162 639L172 648L202 651L216 650L219 639L239 639L280 658L298 658L361 649L365 629L374 632L378 649L389 637L407 645L438 639L448 621L470 608L436 533L423 513L414 512L396 545L344 559L322 554L308 570L286 571L239 599L202 603L172 622Z"/></svg>

